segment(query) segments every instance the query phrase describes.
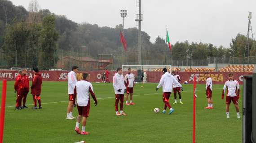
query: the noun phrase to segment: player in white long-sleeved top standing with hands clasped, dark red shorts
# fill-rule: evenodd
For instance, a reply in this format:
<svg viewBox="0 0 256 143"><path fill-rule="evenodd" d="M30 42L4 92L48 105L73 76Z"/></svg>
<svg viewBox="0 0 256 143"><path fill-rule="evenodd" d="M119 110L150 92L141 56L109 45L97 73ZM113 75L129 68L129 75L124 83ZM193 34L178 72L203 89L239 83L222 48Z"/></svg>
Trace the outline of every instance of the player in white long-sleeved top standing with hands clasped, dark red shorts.
<svg viewBox="0 0 256 143"><path fill-rule="evenodd" d="M125 85L124 85L124 76L122 75L123 70L121 67L117 68L117 73L113 77L113 87L115 90L115 115L127 115L123 112L124 106L124 93L125 93ZM118 102L120 101L120 114L118 112Z"/></svg>

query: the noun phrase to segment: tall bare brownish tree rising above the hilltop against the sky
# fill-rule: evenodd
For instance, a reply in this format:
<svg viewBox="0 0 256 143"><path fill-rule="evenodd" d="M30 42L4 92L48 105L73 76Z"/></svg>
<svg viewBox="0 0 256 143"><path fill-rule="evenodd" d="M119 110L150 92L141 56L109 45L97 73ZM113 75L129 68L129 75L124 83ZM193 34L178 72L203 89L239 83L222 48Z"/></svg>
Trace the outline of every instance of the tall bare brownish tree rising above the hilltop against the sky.
<svg viewBox="0 0 256 143"><path fill-rule="evenodd" d="M28 23L37 23L40 21L40 7L37 0L31 0L28 5Z"/></svg>

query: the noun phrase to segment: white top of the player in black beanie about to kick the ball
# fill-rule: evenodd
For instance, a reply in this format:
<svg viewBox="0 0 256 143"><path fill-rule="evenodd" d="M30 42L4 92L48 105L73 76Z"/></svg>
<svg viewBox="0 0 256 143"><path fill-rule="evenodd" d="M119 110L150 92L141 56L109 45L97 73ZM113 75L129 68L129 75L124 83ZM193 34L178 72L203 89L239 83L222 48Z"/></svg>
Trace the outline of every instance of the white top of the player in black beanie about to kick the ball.
<svg viewBox="0 0 256 143"><path fill-rule="evenodd" d="M181 87L181 84L174 78L174 76L172 76L169 72L165 72L162 75L157 88L163 86L163 93L172 93L172 86L174 83Z"/></svg>

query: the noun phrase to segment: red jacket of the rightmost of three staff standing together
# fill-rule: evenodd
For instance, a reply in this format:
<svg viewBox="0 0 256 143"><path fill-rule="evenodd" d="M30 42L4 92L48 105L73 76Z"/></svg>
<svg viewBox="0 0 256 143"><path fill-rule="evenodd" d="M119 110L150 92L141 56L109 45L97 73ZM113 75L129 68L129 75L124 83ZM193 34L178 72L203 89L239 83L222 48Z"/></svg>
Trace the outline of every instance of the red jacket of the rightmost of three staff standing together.
<svg viewBox="0 0 256 143"><path fill-rule="evenodd" d="M35 73L32 80L31 85L31 94L32 95L40 95L41 89L42 89L42 83L43 83L43 77L41 76L41 73Z"/></svg>

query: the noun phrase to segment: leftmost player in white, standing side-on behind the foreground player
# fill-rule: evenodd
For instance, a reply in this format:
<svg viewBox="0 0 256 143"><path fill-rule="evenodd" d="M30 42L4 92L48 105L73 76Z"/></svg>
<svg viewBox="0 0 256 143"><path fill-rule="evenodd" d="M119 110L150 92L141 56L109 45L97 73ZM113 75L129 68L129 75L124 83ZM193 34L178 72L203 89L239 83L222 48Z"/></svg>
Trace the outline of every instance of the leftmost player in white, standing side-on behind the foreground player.
<svg viewBox="0 0 256 143"><path fill-rule="evenodd" d="M73 120L75 117L72 116L72 111L73 111L73 101L75 100L74 97L74 89L75 89L75 84L77 82L76 80L76 73L78 72L78 67L73 66L72 71L70 71L67 74L67 85L68 85L68 96L69 96L69 102L68 106L66 109L66 119L67 120Z"/></svg>

